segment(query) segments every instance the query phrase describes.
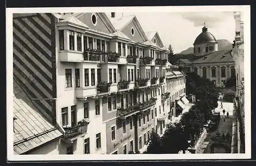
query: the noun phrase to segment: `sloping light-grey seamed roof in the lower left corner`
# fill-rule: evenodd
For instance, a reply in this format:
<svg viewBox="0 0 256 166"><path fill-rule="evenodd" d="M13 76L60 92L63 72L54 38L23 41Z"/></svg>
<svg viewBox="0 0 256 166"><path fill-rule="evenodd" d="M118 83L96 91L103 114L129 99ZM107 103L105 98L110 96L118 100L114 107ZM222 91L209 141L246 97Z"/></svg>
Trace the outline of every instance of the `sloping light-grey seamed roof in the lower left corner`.
<svg viewBox="0 0 256 166"><path fill-rule="evenodd" d="M62 133L39 112L15 80L13 116L13 150L17 154L23 154L62 136Z"/></svg>

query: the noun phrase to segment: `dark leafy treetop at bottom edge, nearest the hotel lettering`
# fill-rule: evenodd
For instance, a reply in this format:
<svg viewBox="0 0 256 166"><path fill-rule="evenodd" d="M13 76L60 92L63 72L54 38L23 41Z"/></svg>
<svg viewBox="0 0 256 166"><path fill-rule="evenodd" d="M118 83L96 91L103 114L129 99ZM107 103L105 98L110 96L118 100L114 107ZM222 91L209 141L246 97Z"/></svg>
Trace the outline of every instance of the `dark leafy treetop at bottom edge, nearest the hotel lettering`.
<svg viewBox="0 0 256 166"><path fill-rule="evenodd" d="M162 153L162 146L161 146L161 139L160 136L152 130L150 135L150 141L147 146L146 154L161 154Z"/></svg>

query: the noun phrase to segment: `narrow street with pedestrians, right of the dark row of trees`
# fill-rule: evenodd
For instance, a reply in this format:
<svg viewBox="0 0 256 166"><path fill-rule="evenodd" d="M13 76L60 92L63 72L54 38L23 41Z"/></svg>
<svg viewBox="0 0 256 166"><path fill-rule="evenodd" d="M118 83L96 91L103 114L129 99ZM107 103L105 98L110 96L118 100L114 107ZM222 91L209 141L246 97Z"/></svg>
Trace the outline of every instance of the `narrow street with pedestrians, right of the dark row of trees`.
<svg viewBox="0 0 256 166"><path fill-rule="evenodd" d="M209 133L206 133L203 137L203 140L201 141L200 145L198 146L196 153L210 153L210 143L211 143L211 137L216 134L217 131L219 131L221 134L224 133L225 135L227 132L229 132L230 136L232 135L232 115L233 115L233 103L230 102L223 102L223 108L226 110L225 116L223 116L222 108L221 108L221 102L218 101L218 107L215 109L215 112L221 113L221 120L220 124L218 126L218 129ZM226 113L229 113L229 118L226 117ZM228 148L231 148L231 139L230 144L228 144ZM218 148L216 147L214 149L215 153L225 153L224 148Z"/></svg>

